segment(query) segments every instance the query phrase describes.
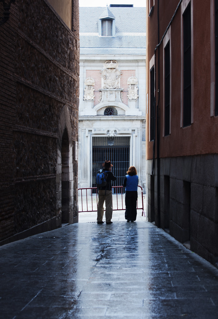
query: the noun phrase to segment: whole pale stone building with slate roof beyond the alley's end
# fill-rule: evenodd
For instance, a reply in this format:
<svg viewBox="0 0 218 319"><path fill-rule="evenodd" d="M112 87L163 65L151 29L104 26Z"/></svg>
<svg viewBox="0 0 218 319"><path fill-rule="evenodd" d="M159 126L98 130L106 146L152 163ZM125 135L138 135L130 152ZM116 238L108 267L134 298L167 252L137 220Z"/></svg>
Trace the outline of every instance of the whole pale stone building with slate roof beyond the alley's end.
<svg viewBox="0 0 218 319"><path fill-rule="evenodd" d="M133 165L145 192L146 8L81 7L79 19L79 188L109 159L116 186Z"/></svg>

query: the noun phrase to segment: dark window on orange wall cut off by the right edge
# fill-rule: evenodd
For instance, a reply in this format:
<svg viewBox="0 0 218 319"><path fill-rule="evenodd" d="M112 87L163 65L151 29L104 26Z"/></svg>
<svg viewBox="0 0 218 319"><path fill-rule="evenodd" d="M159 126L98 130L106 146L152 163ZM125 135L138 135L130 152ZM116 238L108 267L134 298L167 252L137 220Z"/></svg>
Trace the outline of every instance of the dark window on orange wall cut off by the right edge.
<svg viewBox="0 0 218 319"><path fill-rule="evenodd" d="M218 115L218 0L214 1L215 22L215 116Z"/></svg>

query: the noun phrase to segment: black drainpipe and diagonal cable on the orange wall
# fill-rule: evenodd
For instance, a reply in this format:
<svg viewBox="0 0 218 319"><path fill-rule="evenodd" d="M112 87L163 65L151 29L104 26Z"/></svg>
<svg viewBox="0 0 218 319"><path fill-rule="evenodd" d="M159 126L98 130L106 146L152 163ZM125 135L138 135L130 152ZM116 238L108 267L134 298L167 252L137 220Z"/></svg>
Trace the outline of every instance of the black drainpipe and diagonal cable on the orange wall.
<svg viewBox="0 0 218 319"><path fill-rule="evenodd" d="M167 26L162 39L160 41L160 24L159 24L159 0L157 1L157 25L158 25L158 45L156 46L154 50L154 72L155 72L155 82L154 82L154 103L156 105L156 50L158 48L158 102L156 106L156 127L157 127L157 227L160 227L160 117L159 117L159 102L160 102L160 48L159 46L161 45L176 13L177 10L179 9L179 6L181 4L182 0L179 1L177 8L169 22L169 25ZM155 130L154 130L155 132ZM156 134L156 133L154 133ZM154 176L154 167L155 167L155 137L154 137L154 144L153 144L153 163L152 163L152 175Z"/></svg>

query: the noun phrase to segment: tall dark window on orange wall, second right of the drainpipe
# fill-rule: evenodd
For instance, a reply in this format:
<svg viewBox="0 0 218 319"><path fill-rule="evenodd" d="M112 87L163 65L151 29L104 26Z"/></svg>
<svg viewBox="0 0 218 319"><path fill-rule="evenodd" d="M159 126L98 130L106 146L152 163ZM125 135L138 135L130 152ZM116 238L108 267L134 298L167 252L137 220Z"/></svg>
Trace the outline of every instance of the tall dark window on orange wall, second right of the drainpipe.
<svg viewBox="0 0 218 319"><path fill-rule="evenodd" d="M183 127L192 121L191 4L183 13Z"/></svg>

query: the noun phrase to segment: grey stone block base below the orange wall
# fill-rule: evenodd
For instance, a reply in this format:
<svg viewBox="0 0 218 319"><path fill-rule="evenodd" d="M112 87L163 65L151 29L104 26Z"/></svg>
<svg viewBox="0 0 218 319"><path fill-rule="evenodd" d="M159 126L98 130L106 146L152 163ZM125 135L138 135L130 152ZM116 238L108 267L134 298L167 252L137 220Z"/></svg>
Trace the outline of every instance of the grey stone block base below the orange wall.
<svg viewBox="0 0 218 319"><path fill-rule="evenodd" d="M217 154L160 160L160 216L157 215L157 179L147 162L147 215L190 249L218 266ZM167 185L166 180L169 180ZM154 182L153 182L154 181ZM154 183L154 187L153 187ZM153 200L154 197L154 200ZM155 214L155 218L153 218ZM169 229L168 229L169 228Z"/></svg>

